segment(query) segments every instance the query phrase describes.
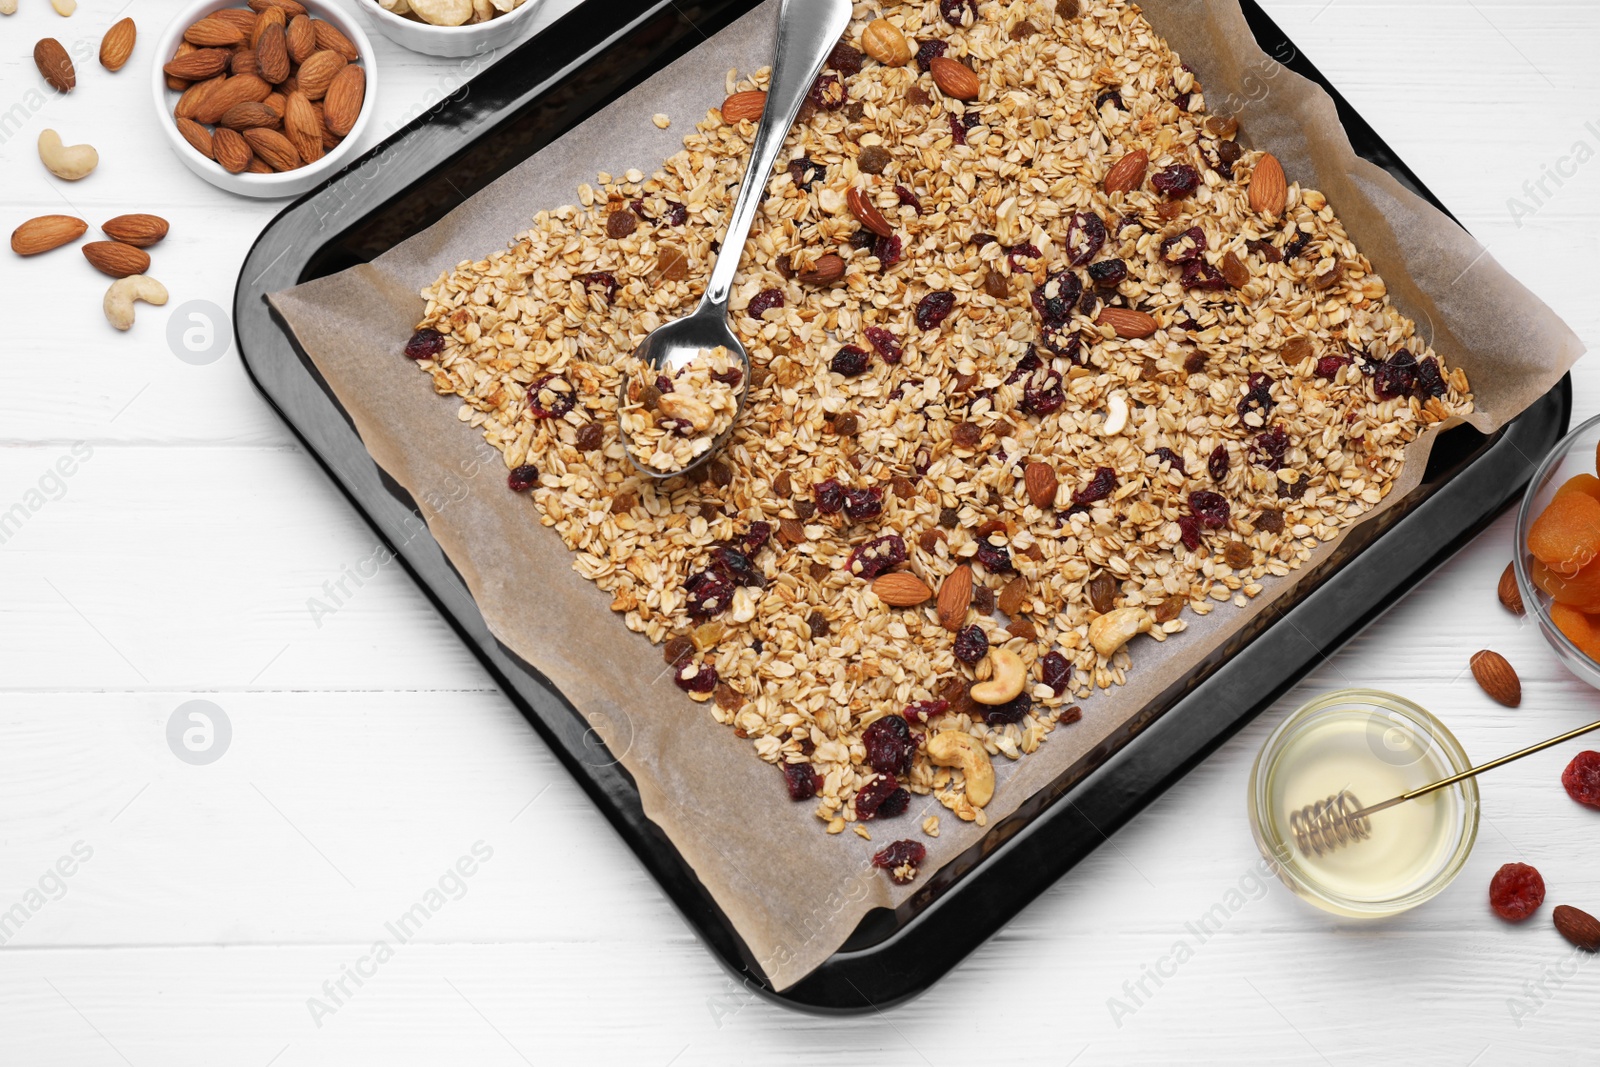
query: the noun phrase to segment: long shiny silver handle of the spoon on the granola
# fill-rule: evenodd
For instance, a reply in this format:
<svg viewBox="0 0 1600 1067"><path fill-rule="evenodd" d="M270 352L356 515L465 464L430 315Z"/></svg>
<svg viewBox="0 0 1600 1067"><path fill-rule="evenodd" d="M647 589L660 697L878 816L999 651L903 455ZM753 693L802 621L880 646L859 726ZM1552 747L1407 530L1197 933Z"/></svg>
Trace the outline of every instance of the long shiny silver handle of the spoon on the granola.
<svg viewBox="0 0 1600 1067"><path fill-rule="evenodd" d="M773 173L778 154L784 147L789 128L794 126L811 83L822 72L834 45L850 26L850 0L784 0L778 11L778 48L773 51L773 77L766 88L766 110L755 131L750 162L739 182L739 198L728 216L728 232L722 235L722 251L710 270L701 310L728 312L728 294L733 291L733 275L744 254L744 242L750 235L755 210L766 194L766 179Z"/></svg>

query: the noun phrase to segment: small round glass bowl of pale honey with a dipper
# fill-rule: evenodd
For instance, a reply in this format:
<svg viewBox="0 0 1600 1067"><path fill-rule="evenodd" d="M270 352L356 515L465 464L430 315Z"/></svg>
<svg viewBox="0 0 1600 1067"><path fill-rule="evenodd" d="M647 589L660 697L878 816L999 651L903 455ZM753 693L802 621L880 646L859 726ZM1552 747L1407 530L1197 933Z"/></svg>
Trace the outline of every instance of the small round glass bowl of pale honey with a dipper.
<svg viewBox="0 0 1600 1067"><path fill-rule="evenodd" d="M1397 915L1448 886L1478 835L1474 779L1370 816L1370 837L1317 854L1293 830L1307 805L1350 790L1374 805L1472 763L1424 709L1378 689L1338 689L1272 731L1250 773L1250 829L1283 883L1354 918Z"/></svg>

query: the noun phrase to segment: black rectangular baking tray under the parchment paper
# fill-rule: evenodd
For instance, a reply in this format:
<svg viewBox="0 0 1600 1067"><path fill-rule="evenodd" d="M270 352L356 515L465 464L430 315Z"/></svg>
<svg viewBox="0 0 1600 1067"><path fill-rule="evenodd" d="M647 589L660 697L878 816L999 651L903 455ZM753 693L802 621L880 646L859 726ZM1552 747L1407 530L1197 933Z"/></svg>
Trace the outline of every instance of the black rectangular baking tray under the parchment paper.
<svg viewBox="0 0 1600 1067"><path fill-rule="evenodd" d="M645 817L632 777L533 667L490 635L414 501L368 456L349 416L264 301L266 293L365 262L430 226L544 144L693 50L757 0L587 3L510 51L266 229L245 261L234 317L245 368L461 640L622 835L712 953L749 989L813 1011L880 1009L914 997L1131 819L1307 670L1450 558L1504 510L1566 432L1562 382L1493 437L1443 434L1421 488L1306 574L1291 605L1262 613L1083 765L997 821L926 877L901 909L869 913L850 941L782 993ZM1251 2L1262 50L1323 85L1357 152L1440 206L1309 59ZM1197 61L1202 67L1203 61ZM1259 82L1272 77L1270 69ZM1245 832L1240 813L1240 833Z"/></svg>

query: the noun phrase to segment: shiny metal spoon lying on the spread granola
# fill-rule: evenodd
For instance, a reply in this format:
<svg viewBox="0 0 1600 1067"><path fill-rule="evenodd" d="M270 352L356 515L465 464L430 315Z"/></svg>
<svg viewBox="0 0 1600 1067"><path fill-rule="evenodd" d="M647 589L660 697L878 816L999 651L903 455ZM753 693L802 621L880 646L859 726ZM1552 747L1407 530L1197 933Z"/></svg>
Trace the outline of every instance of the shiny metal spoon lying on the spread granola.
<svg viewBox="0 0 1600 1067"><path fill-rule="evenodd" d="M733 214L728 216L728 230L722 237L722 251L717 253L717 262L712 266L706 294L693 314L656 326L634 350L634 355L646 366L670 376L683 370L706 349L718 346L728 349L744 368L746 386L739 389L739 410L734 411L734 422L744 411L744 397L749 392L750 355L728 326L728 294L733 291L733 275L739 267L739 256L744 254L744 242L750 235L750 224L755 221L755 210L762 205L766 179L778 162L778 152L784 147L784 139L800 114L800 104L811 91L811 83L816 82L829 53L850 26L850 0L784 0L778 11L778 46L773 53L773 77L766 86L766 110L755 131L750 162L744 170L744 181L739 182L739 197L733 203ZM622 379L622 397L627 397L626 378ZM624 445L629 461L642 474L653 478L677 478L710 459L731 434L733 422L706 453L682 470L645 467L634 459L630 442L624 440Z"/></svg>

